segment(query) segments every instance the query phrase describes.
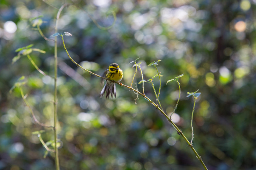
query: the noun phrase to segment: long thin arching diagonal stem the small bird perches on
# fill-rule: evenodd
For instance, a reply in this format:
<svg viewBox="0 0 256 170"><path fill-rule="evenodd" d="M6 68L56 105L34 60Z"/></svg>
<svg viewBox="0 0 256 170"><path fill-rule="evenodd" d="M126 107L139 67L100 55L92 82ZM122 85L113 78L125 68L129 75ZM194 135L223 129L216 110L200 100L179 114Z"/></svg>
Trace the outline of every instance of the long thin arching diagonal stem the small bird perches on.
<svg viewBox="0 0 256 170"><path fill-rule="evenodd" d="M67 54L68 54L68 51L67 51L67 49L66 49L66 47L65 47L63 35L60 35L60 36L61 36L61 38L62 38L63 46L64 46L64 48L65 48L65 50L66 50L66 52L67 52ZM77 62L75 62L75 61L70 57L69 54L68 54L68 57L71 59L71 61L72 61L73 63L75 63L78 67L82 68L84 71L87 71L87 72L89 72L90 74L93 74L93 75L95 75L95 76L97 76L97 77L101 77L102 79L106 79L105 77L99 76L98 74L95 74L95 73L93 73L93 72L91 72L91 71L88 71L88 70L84 69L82 66L80 66L79 64L77 64ZM140 69L140 71L141 71L141 69ZM141 71L141 73L142 73L142 71ZM106 80L107 80L107 79L106 79ZM142 80L143 80L143 78L142 78ZM111 81L111 80L110 80L110 81ZM115 82L115 81L112 81L112 82ZM115 82L115 83L116 83L116 84L120 84L119 82ZM153 104L153 105L167 118L167 120L172 124L172 126L176 129L177 133L178 133L179 135L181 135L181 136L184 138L184 140L188 143L189 147L190 147L190 148L192 149L192 151L195 153L196 158L198 158L198 160L201 162L201 164L203 165L203 167L205 168L205 170L208 170L207 167L205 166L205 163L203 163L202 158L198 155L198 153L196 152L195 148L194 148L193 145L188 141L188 139L186 138L186 136L185 136L185 135L182 133L182 131L177 127L177 125L176 125L175 123L173 123L173 121L167 116L167 114L163 111L163 109L159 108L159 107L157 106L157 104L155 104L152 100L150 100L150 99L145 95L145 93L144 93L144 88L143 88L143 94L142 94L142 93L140 93L138 90L136 90L136 89L134 89L134 88L131 88L130 86L126 86L125 84L122 84L122 87L126 87L126 88L128 88L128 89L134 91L135 93L140 94L141 96L143 96L143 98L145 98L147 101L149 101L149 103Z"/></svg>

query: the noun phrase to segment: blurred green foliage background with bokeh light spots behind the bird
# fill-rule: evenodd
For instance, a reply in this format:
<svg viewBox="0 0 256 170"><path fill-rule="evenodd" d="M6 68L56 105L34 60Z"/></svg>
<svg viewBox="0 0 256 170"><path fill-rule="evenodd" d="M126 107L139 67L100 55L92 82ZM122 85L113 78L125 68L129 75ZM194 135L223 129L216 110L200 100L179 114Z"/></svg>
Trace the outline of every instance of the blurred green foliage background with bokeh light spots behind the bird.
<svg viewBox="0 0 256 170"><path fill-rule="evenodd" d="M256 169L256 1L217 0L67 0L84 9L104 27L97 27L87 13L70 6L61 13L58 32L70 32L65 44L81 66L101 75L116 62L123 69L123 84L130 85L134 61L142 62L146 80L157 72L147 64L162 60L157 68L162 87L159 99L171 114L179 90L177 125L191 138L192 98L200 89L194 113L193 146L209 170ZM50 5L49 5L50 4ZM15 88L21 77L26 99L36 118L53 125L54 43L39 34L35 17L47 38L53 35L62 1L0 0L0 169L55 169L54 154L44 157L44 142L53 131L34 123ZM56 8L55 8L56 7ZM34 24L34 25L33 25ZM31 59L49 76L43 76L16 49L34 44ZM139 72L133 86L142 91ZM156 91L159 80L153 81ZM155 100L150 83L145 94ZM68 59L58 38L58 138L62 142L62 170L197 170L202 169L183 138L151 104L126 88L117 87L117 98L101 99L101 80L77 68Z"/></svg>

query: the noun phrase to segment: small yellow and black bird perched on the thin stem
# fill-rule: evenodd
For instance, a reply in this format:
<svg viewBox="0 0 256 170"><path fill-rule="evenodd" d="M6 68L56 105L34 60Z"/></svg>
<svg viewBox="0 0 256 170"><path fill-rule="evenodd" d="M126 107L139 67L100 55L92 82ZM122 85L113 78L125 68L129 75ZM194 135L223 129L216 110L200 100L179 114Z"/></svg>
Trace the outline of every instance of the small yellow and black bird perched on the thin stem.
<svg viewBox="0 0 256 170"><path fill-rule="evenodd" d="M101 93L99 94L99 96L102 97L106 92L106 98L109 98L110 94L112 98L113 98L113 94L116 98L115 82L121 81L121 79L123 78L123 70L119 68L118 64L112 63L109 65L108 69L106 69L103 76L105 76L108 80L106 80L106 84L104 88L101 90Z"/></svg>

